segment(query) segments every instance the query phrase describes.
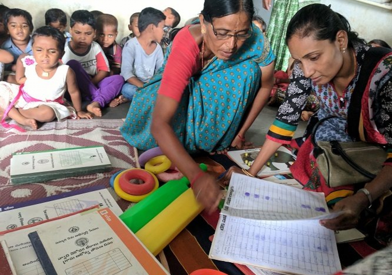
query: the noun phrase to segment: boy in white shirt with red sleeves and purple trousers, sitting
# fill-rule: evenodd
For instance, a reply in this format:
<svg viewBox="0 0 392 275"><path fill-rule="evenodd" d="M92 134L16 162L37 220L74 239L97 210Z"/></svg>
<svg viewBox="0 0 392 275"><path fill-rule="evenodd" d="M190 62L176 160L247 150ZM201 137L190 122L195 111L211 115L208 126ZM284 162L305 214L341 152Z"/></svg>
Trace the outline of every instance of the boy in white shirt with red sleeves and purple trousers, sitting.
<svg viewBox="0 0 392 275"><path fill-rule="evenodd" d="M72 40L65 45L62 60L74 70L82 98L91 102L87 111L101 117L101 108L117 97L124 79L121 75L109 76L109 62L101 46L93 41L96 29L93 14L75 11L70 26Z"/></svg>

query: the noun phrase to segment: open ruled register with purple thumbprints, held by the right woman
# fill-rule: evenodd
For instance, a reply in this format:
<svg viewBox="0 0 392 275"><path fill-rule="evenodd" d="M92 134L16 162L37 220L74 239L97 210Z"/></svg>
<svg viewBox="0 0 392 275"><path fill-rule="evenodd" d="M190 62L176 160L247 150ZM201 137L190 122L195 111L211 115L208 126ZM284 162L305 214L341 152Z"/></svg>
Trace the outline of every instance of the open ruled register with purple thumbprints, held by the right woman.
<svg viewBox="0 0 392 275"><path fill-rule="evenodd" d="M209 257L287 274L341 270L324 194L234 173Z"/></svg>

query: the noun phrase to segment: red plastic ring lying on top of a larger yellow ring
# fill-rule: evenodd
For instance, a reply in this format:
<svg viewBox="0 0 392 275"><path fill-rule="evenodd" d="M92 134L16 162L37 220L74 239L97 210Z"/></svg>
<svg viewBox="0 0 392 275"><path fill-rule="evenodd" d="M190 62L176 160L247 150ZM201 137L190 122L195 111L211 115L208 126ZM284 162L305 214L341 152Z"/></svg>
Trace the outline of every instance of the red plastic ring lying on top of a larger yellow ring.
<svg viewBox="0 0 392 275"><path fill-rule="evenodd" d="M137 184L130 182L130 180L135 179L142 180L143 183ZM118 179L118 183L122 191L135 196L145 195L151 192L155 186L154 175L147 170L138 168L125 171Z"/></svg>

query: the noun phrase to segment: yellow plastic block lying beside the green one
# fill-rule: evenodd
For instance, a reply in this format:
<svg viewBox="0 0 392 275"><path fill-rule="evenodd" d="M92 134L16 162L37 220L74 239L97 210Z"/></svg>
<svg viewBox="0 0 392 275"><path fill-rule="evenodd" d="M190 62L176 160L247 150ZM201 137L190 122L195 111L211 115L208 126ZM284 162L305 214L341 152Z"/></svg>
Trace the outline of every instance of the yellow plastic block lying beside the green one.
<svg viewBox="0 0 392 275"><path fill-rule="evenodd" d="M192 189L183 192L171 204L136 232L147 249L158 255L200 212Z"/></svg>

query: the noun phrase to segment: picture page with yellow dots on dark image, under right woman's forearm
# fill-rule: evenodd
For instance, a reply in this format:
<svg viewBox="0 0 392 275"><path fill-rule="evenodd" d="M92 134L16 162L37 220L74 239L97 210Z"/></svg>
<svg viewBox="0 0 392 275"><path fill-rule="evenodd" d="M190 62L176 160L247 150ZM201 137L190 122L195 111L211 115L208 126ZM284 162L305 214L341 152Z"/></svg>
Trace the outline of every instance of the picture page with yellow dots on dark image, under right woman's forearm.
<svg viewBox="0 0 392 275"><path fill-rule="evenodd" d="M249 169L250 165L256 160L259 152L260 148L254 148L229 151L227 155L241 168ZM265 177L276 174L288 174L290 173L290 166L294 163L294 160L296 160L296 156L286 147L280 146L276 153L267 161L267 164L257 173L257 176Z"/></svg>

